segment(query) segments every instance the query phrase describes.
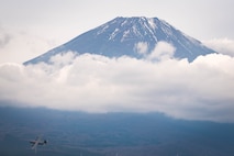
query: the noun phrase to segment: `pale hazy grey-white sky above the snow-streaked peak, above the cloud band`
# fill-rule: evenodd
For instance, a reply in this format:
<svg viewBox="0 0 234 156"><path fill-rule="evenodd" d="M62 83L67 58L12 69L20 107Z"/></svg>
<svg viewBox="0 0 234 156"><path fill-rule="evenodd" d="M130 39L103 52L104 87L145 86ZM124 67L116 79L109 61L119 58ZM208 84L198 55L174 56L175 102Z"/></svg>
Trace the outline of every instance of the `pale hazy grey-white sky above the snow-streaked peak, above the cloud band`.
<svg viewBox="0 0 234 156"><path fill-rule="evenodd" d="M116 16L159 18L200 41L234 40L233 0L0 0L0 63L22 63Z"/></svg>

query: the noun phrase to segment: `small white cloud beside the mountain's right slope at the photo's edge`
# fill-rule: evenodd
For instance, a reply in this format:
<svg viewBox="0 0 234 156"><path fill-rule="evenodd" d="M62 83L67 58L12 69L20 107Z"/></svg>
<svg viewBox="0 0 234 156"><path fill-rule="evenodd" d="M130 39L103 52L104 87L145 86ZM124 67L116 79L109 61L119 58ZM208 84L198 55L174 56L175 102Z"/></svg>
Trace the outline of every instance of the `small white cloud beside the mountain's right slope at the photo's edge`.
<svg viewBox="0 0 234 156"><path fill-rule="evenodd" d="M204 44L214 51L234 56L234 41L230 38L213 38L211 41L205 41Z"/></svg>

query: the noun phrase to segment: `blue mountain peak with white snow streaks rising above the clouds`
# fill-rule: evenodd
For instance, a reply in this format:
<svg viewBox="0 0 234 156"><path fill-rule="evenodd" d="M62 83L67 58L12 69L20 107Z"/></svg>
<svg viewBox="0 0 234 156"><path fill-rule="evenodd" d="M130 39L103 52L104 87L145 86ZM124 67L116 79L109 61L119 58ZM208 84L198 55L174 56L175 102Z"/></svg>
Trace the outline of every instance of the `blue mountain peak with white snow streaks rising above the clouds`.
<svg viewBox="0 0 234 156"><path fill-rule="evenodd" d="M160 41L176 47L175 57L188 58L189 62L200 55L215 53L157 18L115 18L24 64L48 62L52 56L68 51L108 57L127 55L142 58L144 55L136 49L138 43L147 45L147 53L151 53Z"/></svg>

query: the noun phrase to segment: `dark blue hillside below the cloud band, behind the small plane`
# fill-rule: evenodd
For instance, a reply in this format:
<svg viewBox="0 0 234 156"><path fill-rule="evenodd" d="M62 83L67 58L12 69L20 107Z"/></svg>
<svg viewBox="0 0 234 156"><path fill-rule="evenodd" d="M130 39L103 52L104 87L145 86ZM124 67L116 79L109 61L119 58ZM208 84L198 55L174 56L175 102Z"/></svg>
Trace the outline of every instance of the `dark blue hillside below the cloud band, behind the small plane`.
<svg viewBox="0 0 234 156"><path fill-rule="evenodd" d="M160 113L103 113L0 108L0 155L232 156L234 124L175 120Z"/></svg>

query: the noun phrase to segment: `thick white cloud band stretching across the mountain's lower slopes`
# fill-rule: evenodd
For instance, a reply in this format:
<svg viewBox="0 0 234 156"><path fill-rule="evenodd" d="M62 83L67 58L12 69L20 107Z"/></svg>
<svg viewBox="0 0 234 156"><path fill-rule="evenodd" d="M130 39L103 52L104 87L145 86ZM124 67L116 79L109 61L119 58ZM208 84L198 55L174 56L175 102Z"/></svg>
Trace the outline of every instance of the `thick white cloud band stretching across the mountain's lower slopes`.
<svg viewBox="0 0 234 156"><path fill-rule="evenodd" d="M211 54L189 63L171 58L172 46L154 53L161 46L168 55L157 62L68 52L49 65L2 64L0 104L234 122L234 58Z"/></svg>

